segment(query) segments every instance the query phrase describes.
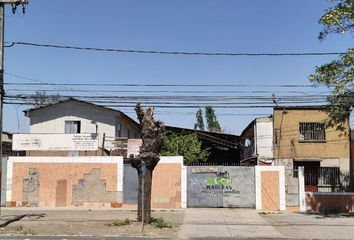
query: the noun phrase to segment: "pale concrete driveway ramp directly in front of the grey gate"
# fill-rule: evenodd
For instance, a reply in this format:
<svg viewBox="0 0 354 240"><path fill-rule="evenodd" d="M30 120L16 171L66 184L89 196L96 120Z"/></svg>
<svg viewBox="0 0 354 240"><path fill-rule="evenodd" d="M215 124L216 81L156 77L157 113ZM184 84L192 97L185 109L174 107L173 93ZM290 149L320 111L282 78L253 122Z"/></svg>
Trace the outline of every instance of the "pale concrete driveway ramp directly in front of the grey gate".
<svg viewBox="0 0 354 240"><path fill-rule="evenodd" d="M186 209L179 239L283 238L254 209Z"/></svg>

